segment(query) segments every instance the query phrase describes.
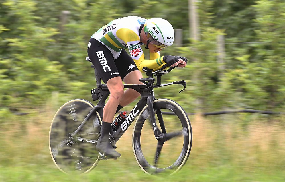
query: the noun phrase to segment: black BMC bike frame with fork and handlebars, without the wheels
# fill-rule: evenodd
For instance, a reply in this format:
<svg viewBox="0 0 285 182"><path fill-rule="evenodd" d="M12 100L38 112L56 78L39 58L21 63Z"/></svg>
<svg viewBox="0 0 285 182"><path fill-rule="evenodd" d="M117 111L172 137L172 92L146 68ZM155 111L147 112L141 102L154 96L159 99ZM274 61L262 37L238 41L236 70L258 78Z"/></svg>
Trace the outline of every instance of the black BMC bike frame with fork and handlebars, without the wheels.
<svg viewBox="0 0 285 182"><path fill-rule="evenodd" d="M95 67L93 65L92 65L92 68L95 69ZM164 68L162 67L162 69L155 71L155 72L151 72L151 71L146 72L149 77L140 79L140 81L143 82L144 85L132 85L132 84L124 85L124 88L131 88L131 89L134 89L137 92L139 92L141 94L141 99L136 104L136 106L132 109L132 111L128 114L126 120L123 121L123 123L121 124L121 127L119 127L117 129L117 131L113 131L112 129L110 130L110 132L111 132L110 134L113 136L115 143L127 131L129 126L131 125L131 123L133 123L133 121L136 119L137 115L142 111L142 109L146 105L148 106L148 112L150 114L150 120L152 123L152 129L154 132L154 137L157 140L159 140L159 137L158 137L159 134L158 134L158 129L156 127L156 119L155 119L154 109L153 109L153 101L156 100L156 98L154 97L153 88L168 86L168 85L172 85L172 84L183 85L184 86L183 90L185 90L185 88L186 88L186 82L185 81L178 81L178 82L172 82L172 83L167 83L167 84L161 85L160 84L160 80L161 80L160 76L164 75L166 73L166 72L161 73L161 71L163 69ZM168 70L168 71L170 71L170 70ZM155 76L157 77L156 85L154 85L155 79L152 78L153 74L155 74ZM90 139L81 138L81 137L76 136L81 131L81 129L84 127L84 125L89 121L89 119L94 114L96 114L96 111L99 113L99 116L101 117L101 121L103 118L103 108L105 106L105 101L107 100L108 96L110 95L110 92L109 92L106 84L101 84L101 78L99 77L99 75L96 74L96 69L95 69L95 77L96 77L97 88L98 88L98 93L99 93L99 102L95 107L93 107L93 109L89 112L89 114L86 116L84 121L82 121L80 126L72 134L77 142L84 142L84 143L88 142L89 144L94 144L97 142L97 140L90 140ZM181 91L183 91L183 90L181 90ZM161 130L162 130L162 133L166 133L166 129L165 129L164 122L162 119L161 111L157 110L156 114L157 114L157 117L159 120L159 124L160 124ZM89 141L91 141L91 142L89 142Z"/></svg>

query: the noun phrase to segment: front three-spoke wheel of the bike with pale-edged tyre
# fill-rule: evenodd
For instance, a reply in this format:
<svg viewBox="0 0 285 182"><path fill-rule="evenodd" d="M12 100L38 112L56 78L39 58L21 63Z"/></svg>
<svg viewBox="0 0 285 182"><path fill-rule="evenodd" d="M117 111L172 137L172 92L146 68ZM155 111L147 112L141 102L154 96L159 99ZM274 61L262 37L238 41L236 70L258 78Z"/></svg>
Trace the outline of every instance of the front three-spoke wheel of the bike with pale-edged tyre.
<svg viewBox="0 0 285 182"><path fill-rule="evenodd" d="M158 134L167 133L173 138L161 143L154 137L148 106L139 113L133 130L133 152L137 163L147 174L168 173L179 171L186 163L192 146L192 129L190 120L184 109L169 99L154 100L153 107L156 117ZM160 125L158 114L161 112L165 130ZM172 115L166 115L166 113ZM160 135L159 135L160 136ZM165 135L166 136L166 135ZM167 138L167 137L164 137ZM158 148L162 147L161 152ZM156 162L155 162L156 161Z"/></svg>

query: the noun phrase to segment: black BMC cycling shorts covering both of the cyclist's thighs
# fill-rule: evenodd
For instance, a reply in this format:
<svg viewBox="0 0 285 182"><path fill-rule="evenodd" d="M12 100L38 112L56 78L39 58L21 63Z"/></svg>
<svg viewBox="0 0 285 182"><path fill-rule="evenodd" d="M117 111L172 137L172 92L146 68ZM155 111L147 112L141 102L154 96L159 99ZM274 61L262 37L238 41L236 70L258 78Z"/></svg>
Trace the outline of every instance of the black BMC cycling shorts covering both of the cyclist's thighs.
<svg viewBox="0 0 285 182"><path fill-rule="evenodd" d="M121 76L123 80L131 71L139 70L125 49L122 49L119 57L114 59L111 51L94 38L90 39L87 52L90 61L96 68L96 72L104 83L107 83L109 79L117 76Z"/></svg>

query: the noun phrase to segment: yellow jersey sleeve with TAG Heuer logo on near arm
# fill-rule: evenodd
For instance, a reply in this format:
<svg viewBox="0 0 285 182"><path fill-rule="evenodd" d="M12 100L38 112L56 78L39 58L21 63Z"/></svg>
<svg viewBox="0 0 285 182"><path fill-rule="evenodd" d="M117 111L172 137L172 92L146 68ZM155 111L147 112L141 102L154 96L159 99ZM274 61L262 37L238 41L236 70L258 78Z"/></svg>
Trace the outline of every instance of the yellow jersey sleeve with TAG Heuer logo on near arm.
<svg viewBox="0 0 285 182"><path fill-rule="evenodd" d="M143 67L157 70L165 63L162 59L163 56L160 57L160 52L150 53L150 60L144 59L144 53L140 46L140 38L133 30L121 28L117 30L117 37L127 44L131 57L141 72L143 72Z"/></svg>

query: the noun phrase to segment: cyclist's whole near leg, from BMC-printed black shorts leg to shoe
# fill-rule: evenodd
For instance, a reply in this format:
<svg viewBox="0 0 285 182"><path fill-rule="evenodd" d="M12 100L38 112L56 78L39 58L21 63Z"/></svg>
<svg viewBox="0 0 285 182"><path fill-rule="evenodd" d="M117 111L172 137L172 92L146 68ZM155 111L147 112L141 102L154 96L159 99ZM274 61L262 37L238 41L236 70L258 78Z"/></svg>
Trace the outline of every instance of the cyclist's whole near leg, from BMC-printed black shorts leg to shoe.
<svg viewBox="0 0 285 182"><path fill-rule="evenodd" d="M97 141L96 148L106 156L120 157L121 154L116 152L110 144L109 132L116 108L124 94L122 78L114 62L114 56L105 45L90 38L87 52L97 74L107 84L110 91L109 100L103 109L101 137Z"/></svg>

